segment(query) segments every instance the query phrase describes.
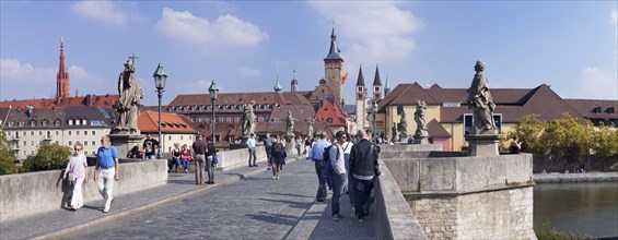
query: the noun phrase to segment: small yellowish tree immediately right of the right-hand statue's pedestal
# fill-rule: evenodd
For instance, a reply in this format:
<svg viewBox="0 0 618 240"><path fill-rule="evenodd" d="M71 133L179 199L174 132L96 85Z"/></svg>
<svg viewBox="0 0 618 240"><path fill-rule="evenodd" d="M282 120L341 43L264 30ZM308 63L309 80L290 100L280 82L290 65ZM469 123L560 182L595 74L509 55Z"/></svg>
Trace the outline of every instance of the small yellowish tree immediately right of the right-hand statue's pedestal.
<svg viewBox="0 0 618 240"><path fill-rule="evenodd" d="M547 122L539 120L538 117L539 115L536 113L524 116L515 125L514 131L509 133L509 139L517 136L522 142L522 152L545 155L548 147L540 141L540 136Z"/></svg>

